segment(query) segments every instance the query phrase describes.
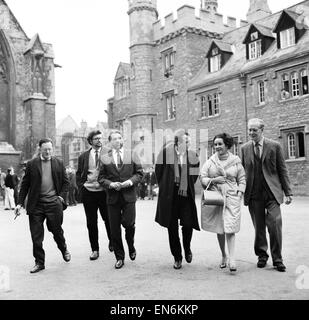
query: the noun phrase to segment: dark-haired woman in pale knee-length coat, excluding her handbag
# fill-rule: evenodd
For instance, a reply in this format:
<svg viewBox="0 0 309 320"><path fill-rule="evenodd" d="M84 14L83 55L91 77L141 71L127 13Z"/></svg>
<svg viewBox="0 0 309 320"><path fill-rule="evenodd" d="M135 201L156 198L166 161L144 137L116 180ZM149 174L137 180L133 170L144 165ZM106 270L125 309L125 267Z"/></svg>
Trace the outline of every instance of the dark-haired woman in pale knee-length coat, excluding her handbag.
<svg viewBox="0 0 309 320"><path fill-rule="evenodd" d="M202 229L217 233L222 252L220 268L227 267L225 240L229 251L229 268L236 272L235 234L240 231L241 201L246 190L245 170L239 157L229 150L234 145L233 138L226 134L215 136L216 153L204 164L200 179L204 188L218 190L224 198L223 206L202 206Z"/></svg>

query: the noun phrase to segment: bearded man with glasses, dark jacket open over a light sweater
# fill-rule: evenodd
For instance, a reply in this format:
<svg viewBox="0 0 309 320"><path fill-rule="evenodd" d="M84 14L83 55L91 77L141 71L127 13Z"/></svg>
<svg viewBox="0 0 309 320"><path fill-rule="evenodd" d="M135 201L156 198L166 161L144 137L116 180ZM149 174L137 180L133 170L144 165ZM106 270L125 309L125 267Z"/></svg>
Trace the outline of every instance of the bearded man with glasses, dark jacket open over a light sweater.
<svg viewBox="0 0 309 320"><path fill-rule="evenodd" d="M111 243L110 224L106 206L106 192L98 182L101 157L105 153L102 145L101 131L92 131L87 138L91 148L81 154L78 158L78 169L76 172L76 183L84 205L88 235L92 253L90 260L99 258L99 231L98 210L105 223L107 237L109 239L109 251L113 251Z"/></svg>

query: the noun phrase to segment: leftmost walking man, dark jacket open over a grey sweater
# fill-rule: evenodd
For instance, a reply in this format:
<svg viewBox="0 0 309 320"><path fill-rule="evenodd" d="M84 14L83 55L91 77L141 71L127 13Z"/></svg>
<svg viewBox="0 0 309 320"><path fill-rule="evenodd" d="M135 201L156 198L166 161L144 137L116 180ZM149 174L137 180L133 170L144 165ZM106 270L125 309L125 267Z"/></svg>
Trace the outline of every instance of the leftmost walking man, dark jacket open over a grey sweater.
<svg viewBox="0 0 309 320"><path fill-rule="evenodd" d="M40 155L27 163L22 180L18 205L15 214L20 214L28 195L27 214L33 242L35 266L30 273L45 269L45 252L43 249L44 221L52 232L64 261L69 262L71 255L62 229L64 198L68 191L69 181L63 163L52 157L53 142L42 139L39 142Z"/></svg>

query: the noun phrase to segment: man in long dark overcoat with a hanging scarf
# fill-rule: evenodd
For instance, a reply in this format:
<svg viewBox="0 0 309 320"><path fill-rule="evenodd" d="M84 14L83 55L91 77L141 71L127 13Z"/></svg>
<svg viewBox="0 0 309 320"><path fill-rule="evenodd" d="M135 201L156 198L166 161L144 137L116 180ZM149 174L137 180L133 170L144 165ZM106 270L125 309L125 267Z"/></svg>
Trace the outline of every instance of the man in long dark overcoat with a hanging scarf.
<svg viewBox="0 0 309 320"><path fill-rule="evenodd" d="M198 155L189 150L190 136L182 131L160 152L155 173L159 185L155 221L168 228L169 245L175 263L174 269L182 267L182 249L179 239L179 224L185 259L192 262L191 239L193 229L200 230L195 205L194 184L199 174Z"/></svg>

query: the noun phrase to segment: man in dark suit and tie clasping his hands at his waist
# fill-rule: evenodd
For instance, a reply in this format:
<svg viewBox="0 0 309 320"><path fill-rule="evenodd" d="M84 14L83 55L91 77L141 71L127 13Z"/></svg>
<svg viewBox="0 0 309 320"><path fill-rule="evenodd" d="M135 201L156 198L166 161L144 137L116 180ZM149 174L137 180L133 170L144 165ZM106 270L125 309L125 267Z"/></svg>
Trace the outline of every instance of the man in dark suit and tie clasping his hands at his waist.
<svg viewBox="0 0 309 320"><path fill-rule="evenodd" d="M131 260L136 258L134 247L136 186L143 178L143 168L138 157L123 148L123 138L119 131L109 135L112 150L103 157L99 182L107 189L108 215L111 225L112 243L116 264L124 265L125 252L121 238L121 225L125 228L125 238Z"/></svg>

